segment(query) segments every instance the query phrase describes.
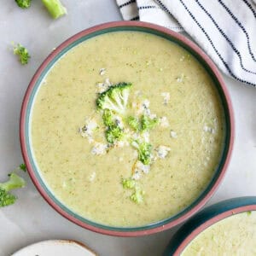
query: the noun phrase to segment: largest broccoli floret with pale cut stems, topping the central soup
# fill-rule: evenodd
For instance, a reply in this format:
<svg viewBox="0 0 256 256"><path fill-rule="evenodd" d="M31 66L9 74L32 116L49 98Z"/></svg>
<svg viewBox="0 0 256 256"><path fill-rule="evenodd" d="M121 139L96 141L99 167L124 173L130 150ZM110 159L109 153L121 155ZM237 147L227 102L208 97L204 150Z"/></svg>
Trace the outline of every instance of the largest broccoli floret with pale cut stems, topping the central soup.
<svg viewBox="0 0 256 256"><path fill-rule="evenodd" d="M115 113L125 113L131 83L114 84L102 92L96 100L97 108L109 109Z"/></svg>

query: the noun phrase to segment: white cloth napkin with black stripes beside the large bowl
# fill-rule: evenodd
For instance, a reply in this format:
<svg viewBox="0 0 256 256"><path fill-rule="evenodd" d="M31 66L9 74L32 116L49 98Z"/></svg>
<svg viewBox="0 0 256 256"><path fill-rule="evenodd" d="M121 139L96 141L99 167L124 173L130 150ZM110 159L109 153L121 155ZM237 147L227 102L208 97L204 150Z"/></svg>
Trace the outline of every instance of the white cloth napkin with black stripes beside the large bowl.
<svg viewBox="0 0 256 256"><path fill-rule="evenodd" d="M255 0L117 0L124 20L187 32L231 78L256 86Z"/></svg>

